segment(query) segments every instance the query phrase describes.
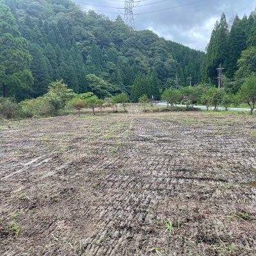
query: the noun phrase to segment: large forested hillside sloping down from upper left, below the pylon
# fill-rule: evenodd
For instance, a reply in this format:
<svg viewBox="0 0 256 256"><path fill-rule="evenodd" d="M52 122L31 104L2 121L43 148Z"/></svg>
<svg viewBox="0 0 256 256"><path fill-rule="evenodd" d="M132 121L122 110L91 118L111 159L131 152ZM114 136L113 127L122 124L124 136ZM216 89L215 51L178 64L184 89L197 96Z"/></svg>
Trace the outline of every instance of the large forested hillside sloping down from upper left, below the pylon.
<svg viewBox="0 0 256 256"><path fill-rule="evenodd" d="M10 54L19 48L22 53L17 53L21 58L10 60L7 52L1 52L4 79L0 86L6 97L20 100L40 96L51 81L60 79L74 92L91 91L101 98L119 92L130 94L135 78L141 76L149 83L155 81L153 90L188 85L190 75L192 83L200 82L204 53L159 38L151 31L133 31L121 17L113 22L104 15L83 12L69 0L0 3L5 30L0 35L1 47L7 44L4 37L8 35L13 43L6 51ZM18 41L22 47L17 47ZM24 68L14 68L13 63ZM8 66L10 71L4 71ZM17 73L10 85L10 74L15 72L19 77Z"/></svg>

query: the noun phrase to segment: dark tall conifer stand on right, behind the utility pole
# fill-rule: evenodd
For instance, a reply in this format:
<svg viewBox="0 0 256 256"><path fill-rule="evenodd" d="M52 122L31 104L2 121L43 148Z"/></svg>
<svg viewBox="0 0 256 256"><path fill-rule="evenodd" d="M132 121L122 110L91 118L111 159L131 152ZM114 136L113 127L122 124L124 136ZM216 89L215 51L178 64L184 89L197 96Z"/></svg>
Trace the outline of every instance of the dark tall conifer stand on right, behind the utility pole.
<svg viewBox="0 0 256 256"><path fill-rule="evenodd" d="M256 72L256 11L240 19L237 15L228 28L225 14L217 21L202 66L203 80L216 84L216 68L222 65L223 85L229 92L237 92L246 77Z"/></svg>

